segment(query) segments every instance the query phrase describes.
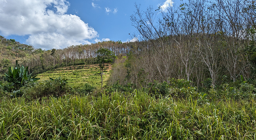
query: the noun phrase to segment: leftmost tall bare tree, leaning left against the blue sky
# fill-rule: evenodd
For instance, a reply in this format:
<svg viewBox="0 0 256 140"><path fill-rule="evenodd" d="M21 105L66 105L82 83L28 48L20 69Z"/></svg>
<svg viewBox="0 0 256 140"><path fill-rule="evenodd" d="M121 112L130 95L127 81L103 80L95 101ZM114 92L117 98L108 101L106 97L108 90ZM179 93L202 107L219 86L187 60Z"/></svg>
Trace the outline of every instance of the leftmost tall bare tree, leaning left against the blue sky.
<svg viewBox="0 0 256 140"><path fill-rule="evenodd" d="M152 7L146 12L140 11L138 5L135 7L136 12L131 16L132 25L137 28L141 40L145 43L143 50L148 52L146 56L150 60L149 64L154 64L151 64L152 70L156 68L160 81L168 81L175 66L172 59L172 43L169 42L169 30L164 21L160 19L156 21L158 13Z"/></svg>

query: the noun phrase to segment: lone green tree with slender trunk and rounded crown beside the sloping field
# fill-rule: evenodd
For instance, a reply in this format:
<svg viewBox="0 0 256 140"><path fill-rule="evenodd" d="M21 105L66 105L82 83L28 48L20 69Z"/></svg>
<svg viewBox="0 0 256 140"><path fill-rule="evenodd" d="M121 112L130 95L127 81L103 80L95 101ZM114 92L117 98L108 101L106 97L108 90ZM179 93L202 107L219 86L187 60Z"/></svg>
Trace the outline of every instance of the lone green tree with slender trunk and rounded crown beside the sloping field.
<svg viewBox="0 0 256 140"><path fill-rule="evenodd" d="M101 87L102 87L102 74L103 69L105 67L105 63L112 63L114 62L114 59L116 58L114 52L106 49L106 48L100 48L97 52L97 62L99 63L100 67L100 76L101 76Z"/></svg>

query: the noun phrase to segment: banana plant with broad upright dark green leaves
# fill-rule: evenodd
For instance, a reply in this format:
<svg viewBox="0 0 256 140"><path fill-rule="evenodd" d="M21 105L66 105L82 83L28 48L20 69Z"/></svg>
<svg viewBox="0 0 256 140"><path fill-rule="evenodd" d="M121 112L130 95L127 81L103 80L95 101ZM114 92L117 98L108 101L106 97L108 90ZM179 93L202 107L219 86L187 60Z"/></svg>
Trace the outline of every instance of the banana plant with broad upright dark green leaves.
<svg viewBox="0 0 256 140"><path fill-rule="evenodd" d="M33 73L33 72L32 72ZM31 77L31 74L28 74L28 66L24 67L23 65L18 65L18 60L16 60L16 67L9 67L8 73L5 73L7 82L13 82L15 87L21 87L24 85L25 81L36 81L40 78L36 76Z"/></svg>

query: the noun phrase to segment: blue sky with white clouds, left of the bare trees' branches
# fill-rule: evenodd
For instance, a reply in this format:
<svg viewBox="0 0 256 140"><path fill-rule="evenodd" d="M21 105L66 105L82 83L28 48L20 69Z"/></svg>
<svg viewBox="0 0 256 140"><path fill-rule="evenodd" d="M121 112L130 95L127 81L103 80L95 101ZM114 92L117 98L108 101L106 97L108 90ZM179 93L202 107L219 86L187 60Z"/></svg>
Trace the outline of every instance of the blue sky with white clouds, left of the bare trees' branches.
<svg viewBox="0 0 256 140"><path fill-rule="evenodd" d="M44 50L132 42L135 3L164 11L175 0L0 0L0 35Z"/></svg>

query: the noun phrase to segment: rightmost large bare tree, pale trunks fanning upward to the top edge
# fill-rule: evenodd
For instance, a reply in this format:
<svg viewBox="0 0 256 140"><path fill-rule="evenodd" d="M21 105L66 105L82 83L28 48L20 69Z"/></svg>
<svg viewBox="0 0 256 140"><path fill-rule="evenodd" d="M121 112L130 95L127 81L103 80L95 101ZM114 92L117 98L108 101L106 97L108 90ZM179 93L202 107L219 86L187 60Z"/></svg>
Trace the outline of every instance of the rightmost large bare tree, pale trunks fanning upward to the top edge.
<svg viewBox="0 0 256 140"><path fill-rule="evenodd" d="M221 22L218 28L223 33L222 59L233 82L248 66L242 57L247 36L246 20L242 16L244 3L244 0L216 0L215 3L215 16Z"/></svg>

